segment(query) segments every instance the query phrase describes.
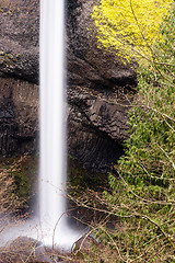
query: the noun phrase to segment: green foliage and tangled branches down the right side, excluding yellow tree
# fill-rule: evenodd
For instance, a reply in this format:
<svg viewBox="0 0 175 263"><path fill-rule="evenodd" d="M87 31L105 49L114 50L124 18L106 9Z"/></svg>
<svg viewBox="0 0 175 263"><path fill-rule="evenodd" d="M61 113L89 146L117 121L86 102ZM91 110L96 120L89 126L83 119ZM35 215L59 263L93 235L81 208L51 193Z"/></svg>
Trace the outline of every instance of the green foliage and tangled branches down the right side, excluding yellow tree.
<svg viewBox="0 0 175 263"><path fill-rule="evenodd" d="M112 190L104 193L106 214L120 218L122 230L98 226L97 236L120 262L175 262L174 24L175 4L160 25L152 59L138 68L126 155L115 167L119 178L110 174Z"/></svg>

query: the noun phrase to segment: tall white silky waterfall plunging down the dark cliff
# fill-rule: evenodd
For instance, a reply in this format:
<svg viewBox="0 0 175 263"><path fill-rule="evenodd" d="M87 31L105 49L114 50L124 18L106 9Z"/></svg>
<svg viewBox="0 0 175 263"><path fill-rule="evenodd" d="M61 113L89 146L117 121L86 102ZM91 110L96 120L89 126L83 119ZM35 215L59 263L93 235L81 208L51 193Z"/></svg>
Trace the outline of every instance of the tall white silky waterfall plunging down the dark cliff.
<svg viewBox="0 0 175 263"><path fill-rule="evenodd" d="M39 221L44 244L54 241L70 247L78 235L63 215L67 167L63 13L63 0L40 0Z"/></svg>

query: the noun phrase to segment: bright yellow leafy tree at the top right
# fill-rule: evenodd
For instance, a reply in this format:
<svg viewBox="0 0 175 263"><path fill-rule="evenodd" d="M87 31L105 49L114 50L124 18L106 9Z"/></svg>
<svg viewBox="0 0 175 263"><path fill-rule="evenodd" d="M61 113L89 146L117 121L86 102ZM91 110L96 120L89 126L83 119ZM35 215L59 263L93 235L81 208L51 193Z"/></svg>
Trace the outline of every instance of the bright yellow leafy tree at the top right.
<svg viewBox="0 0 175 263"><path fill-rule="evenodd" d="M101 0L92 13L97 28L98 45L117 49L124 61L127 59L130 62L133 57L139 60L145 56L152 57L150 46L162 37L159 25L172 2Z"/></svg>

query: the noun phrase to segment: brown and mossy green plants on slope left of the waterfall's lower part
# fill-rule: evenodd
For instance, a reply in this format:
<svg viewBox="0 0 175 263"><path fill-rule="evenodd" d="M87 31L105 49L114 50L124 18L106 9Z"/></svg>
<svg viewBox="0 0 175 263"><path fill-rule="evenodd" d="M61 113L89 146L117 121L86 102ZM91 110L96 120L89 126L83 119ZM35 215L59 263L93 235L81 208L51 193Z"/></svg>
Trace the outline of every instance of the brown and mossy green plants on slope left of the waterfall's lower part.
<svg viewBox="0 0 175 263"><path fill-rule="evenodd" d="M32 213L37 186L37 157L14 156L1 158L0 216ZM26 215L25 215L26 216Z"/></svg>

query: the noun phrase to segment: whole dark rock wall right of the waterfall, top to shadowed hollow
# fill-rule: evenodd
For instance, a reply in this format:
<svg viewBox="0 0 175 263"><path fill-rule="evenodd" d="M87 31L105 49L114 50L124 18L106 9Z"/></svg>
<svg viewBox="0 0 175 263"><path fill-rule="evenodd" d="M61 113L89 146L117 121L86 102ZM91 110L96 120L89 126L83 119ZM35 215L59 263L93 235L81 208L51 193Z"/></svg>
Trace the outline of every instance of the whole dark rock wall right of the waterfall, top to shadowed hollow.
<svg viewBox="0 0 175 263"><path fill-rule="evenodd" d="M68 0L68 145L85 168L106 171L122 153L136 72L97 47L91 19L97 0Z"/></svg>

